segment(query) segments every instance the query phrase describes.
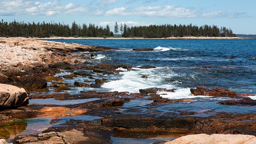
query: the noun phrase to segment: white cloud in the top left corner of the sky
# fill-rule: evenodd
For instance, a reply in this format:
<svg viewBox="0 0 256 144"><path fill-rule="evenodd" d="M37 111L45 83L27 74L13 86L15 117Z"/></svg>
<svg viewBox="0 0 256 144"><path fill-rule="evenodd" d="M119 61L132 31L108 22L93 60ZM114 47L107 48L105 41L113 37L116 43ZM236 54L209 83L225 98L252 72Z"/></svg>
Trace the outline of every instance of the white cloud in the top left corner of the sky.
<svg viewBox="0 0 256 144"><path fill-rule="evenodd" d="M86 7L73 3L61 4L59 0L1 0L0 15L46 15L53 16L59 14L82 14L87 11Z"/></svg>

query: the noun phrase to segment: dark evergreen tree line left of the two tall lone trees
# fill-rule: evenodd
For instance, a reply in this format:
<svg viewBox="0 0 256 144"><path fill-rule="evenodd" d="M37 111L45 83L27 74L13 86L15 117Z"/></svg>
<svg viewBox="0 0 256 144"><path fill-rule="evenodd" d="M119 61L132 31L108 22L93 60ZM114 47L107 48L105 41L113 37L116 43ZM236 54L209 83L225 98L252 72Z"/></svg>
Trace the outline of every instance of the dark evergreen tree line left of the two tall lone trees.
<svg viewBox="0 0 256 144"><path fill-rule="evenodd" d="M60 24L54 22L0 22L0 36L2 37L37 37L37 38L49 38L52 36L62 37L110 37L114 36L110 31L109 25L105 28L98 27L94 24L76 24L73 22L71 26L68 24Z"/></svg>

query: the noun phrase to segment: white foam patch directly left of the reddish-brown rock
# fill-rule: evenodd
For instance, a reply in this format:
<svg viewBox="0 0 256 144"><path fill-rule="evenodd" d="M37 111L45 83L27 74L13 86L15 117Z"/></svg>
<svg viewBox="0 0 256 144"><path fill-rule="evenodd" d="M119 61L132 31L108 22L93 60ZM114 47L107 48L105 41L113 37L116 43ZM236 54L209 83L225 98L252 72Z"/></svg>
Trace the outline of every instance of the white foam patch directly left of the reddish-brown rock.
<svg viewBox="0 0 256 144"><path fill-rule="evenodd" d="M169 99L182 99L182 98L208 98L209 96L194 96L190 92L190 88L180 88L176 90L175 92L164 92L160 91L158 92L160 96L163 98L169 98Z"/></svg>

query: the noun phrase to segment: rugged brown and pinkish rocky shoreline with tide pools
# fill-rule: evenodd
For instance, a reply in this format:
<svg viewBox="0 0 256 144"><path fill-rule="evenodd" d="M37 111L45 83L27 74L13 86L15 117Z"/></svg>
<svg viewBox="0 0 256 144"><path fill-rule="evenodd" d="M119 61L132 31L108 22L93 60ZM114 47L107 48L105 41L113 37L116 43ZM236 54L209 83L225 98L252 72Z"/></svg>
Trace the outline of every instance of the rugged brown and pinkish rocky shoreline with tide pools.
<svg viewBox="0 0 256 144"><path fill-rule="evenodd" d="M148 88L140 89L140 93L129 92L96 92L82 91L80 94L68 94L70 87L99 88L107 82L105 76L118 76L122 70L130 70L127 64L88 64L86 60L93 59L98 51L113 51L115 49L100 46L85 46L27 38L0 38L0 136L12 143L112 143L111 136L122 135L145 136L170 134L178 138L188 134L247 134L256 136L256 114L234 114L220 112L213 116L197 116L199 112L176 110L162 112L158 107L194 99L170 100L162 98L161 92L176 92L176 89ZM74 52L89 52L74 54ZM154 68L142 66L140 68ZM63 70L70 72L64 76L54 76ZM94 74L101 78L94 79ZM88 77L88 81L77 81L74 85L63 82L63 79ZM145 77L144 77L145 78ZM48 83L50 83L50 85ZM17 86L15 92L6 93L9 85ZM23 89L24 88L24 89ZM9 88L10 89L10 88ZM13 88L14 89L14 88ZM52 91L52 93L44 93ZM14 90L13 90L14 91ZM22 91L22 92L21 92ZM24 92L28 95L24 95ZM236 94L234 91L221 88L206 89L198 86L190 90L194 95L234 98L219 104L236 106L255 106L246 94ZM40 92L40 94L33 94ZM30 94L31 93L31 94ZM5 94L5 95L4 95ZM23 103L19 104L16 96L21 96ZM3 96L8 97L7 102ZM14 98L11 98L13 96ZM20 98L21 98L20 97ZM88 100L77 104L28 104L30 100ZM144 106L124 107L133 100L148 100ZM8 105L7 105L8 104ZM204 111L203 113L208 113ZM24 120L37 117L51 117L50 123L56 124L68 116L95 116L95 120L68 120L58 126L41 130L39 134L18 135L26 130ZM15 129L15 131L13 130ZM133 131L129 133L130 131ZM178 131L178 132L177 132ZM142 135L141 135L142 134ZM177 134L177 135L175 135ZM18 136L17 136L18 135ZM4 137L3 137L4 136ZM13 138L14 137L14 138ZM221 137L221 136L220 136ZM217 138L218 139L218 138ZM177 139L178 140L178 139ZM164 143L164 142L162 142Z"/></svg>

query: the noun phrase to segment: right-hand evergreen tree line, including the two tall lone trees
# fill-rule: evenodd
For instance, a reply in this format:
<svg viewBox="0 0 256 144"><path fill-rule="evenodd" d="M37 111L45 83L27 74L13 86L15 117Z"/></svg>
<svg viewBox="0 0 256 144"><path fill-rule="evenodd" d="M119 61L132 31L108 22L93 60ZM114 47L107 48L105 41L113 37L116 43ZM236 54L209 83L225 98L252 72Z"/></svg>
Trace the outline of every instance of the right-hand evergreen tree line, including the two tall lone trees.
<svg viewBox="0 0 256 144"><path fill-rule="evenodd" d="M190 25L150 25L150 26L127 26L122 25L119 28L122 37L134 38L168 38L168 37L184 37L184 36L208 36L208 37L236 37L231 28L217 26L192 26ZM118 33L118 24L116 22L114 32Z"/></svg>

